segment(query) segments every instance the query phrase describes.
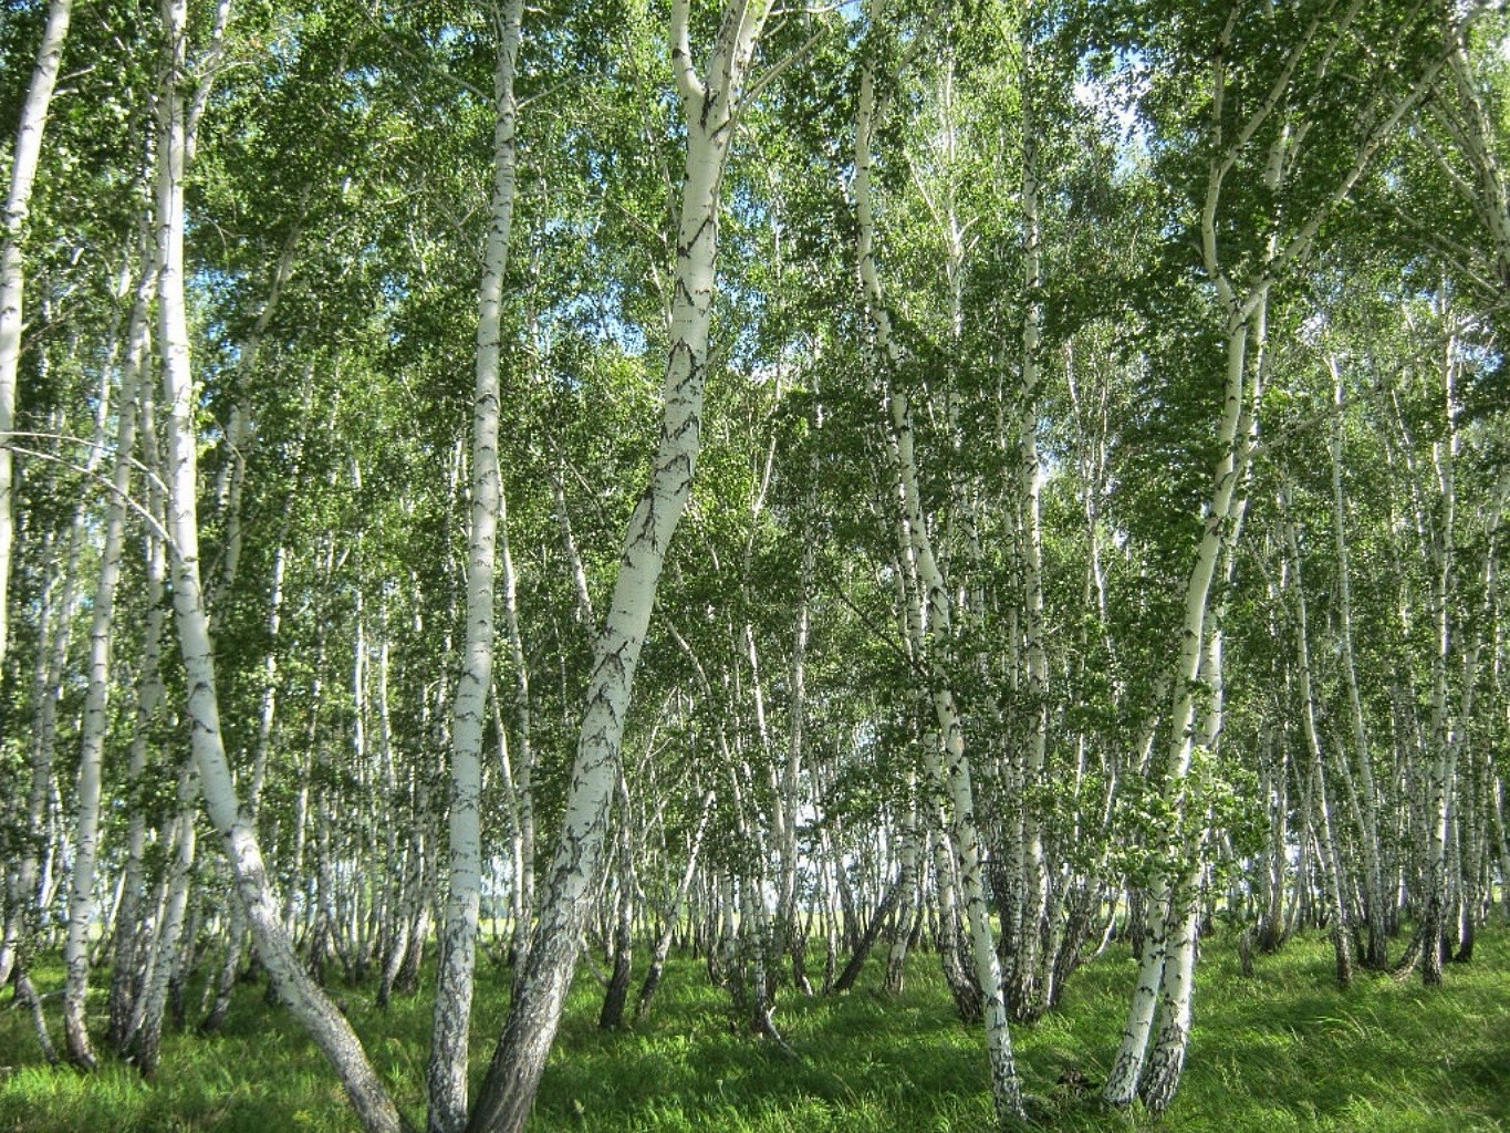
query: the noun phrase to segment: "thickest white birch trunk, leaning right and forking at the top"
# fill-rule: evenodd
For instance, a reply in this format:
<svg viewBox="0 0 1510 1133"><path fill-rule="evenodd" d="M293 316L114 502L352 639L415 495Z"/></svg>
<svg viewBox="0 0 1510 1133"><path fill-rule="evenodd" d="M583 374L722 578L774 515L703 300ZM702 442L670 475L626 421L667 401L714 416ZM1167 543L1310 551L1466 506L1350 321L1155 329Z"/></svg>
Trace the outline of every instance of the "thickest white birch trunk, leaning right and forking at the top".
<svg viewBox="0 0 1510 1133"><path fill-rule="evenodd" d="M692 492L702 438L708 322L716 289L719 198L743 85L769 0L729 0L699 77L689 44L689 0L672 5L672 69L687 124L676 237L664 414L651 482L625 533L619 574L593 644L586 710L560 835L530 955L473 1110L471 1133L516 1133L528 1116L577 965L607 837L625 716L672 533Z"/></svg>

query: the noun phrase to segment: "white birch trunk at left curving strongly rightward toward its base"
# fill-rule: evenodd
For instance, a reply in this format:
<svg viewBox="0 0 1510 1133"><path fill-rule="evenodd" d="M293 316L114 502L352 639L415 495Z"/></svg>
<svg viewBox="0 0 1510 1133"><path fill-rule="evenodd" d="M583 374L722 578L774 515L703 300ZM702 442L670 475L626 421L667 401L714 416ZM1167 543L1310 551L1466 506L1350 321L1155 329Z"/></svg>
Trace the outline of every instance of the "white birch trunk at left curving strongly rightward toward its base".
<svg viewBox="0 0 1510 1133"><path fill-rule="evenodd" d="M279 920L257 832L242 814L220 733L210 621L199 580L198 431L184 302L184 165L189 107L183 88L187 0L163 0L166 71L159 97L157 308L163 399L169 408L168 529L172 538L174 621L187 677L187 716L205 808L225 843L236 888L269 979L314 1042L335 1065L368 1133L397 1133L403 1119L373 1071L350 1024L310 980Z"/></svg>

